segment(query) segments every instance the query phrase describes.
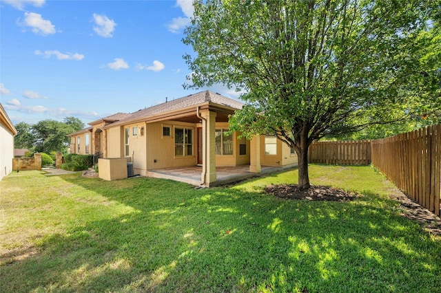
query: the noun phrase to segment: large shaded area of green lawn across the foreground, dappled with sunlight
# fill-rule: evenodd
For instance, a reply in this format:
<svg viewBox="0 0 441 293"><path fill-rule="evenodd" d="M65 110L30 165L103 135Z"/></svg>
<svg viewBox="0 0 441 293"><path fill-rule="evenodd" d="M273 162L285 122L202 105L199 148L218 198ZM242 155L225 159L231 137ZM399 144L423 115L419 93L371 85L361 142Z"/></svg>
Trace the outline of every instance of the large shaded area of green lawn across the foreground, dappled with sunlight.
<svg viewBox="0 0 441 293"><path fill-rule="evenodd" d="M1 292L439 289L441 244L375 201L64 178L133 212L46 237L38 254L0 268Z"/></svg>

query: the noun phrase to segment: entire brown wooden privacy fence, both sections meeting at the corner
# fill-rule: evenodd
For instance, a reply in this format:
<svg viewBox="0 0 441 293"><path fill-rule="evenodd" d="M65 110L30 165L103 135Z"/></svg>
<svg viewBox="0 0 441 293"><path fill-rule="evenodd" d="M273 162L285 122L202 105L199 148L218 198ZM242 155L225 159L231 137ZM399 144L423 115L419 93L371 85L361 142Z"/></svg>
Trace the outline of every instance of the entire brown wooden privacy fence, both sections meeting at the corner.
<svg viewBox="0 0 441 293"><path fill-rule="evenodd" d="M309 162L373 164L414 202L441 216L441 124L381 140L314 142Z"/></svg>

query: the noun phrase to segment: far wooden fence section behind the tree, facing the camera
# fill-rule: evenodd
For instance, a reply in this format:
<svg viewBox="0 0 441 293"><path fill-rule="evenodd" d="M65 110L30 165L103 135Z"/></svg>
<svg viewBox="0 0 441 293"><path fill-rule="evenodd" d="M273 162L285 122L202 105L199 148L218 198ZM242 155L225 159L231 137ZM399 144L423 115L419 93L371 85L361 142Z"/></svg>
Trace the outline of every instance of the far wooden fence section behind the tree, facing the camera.
<svg viewBox="0 0 441 293"><path fill-rule="evenodd" d="M371 141L313 142L308 158L309 162L319 164L369 165Z"/></svg>

